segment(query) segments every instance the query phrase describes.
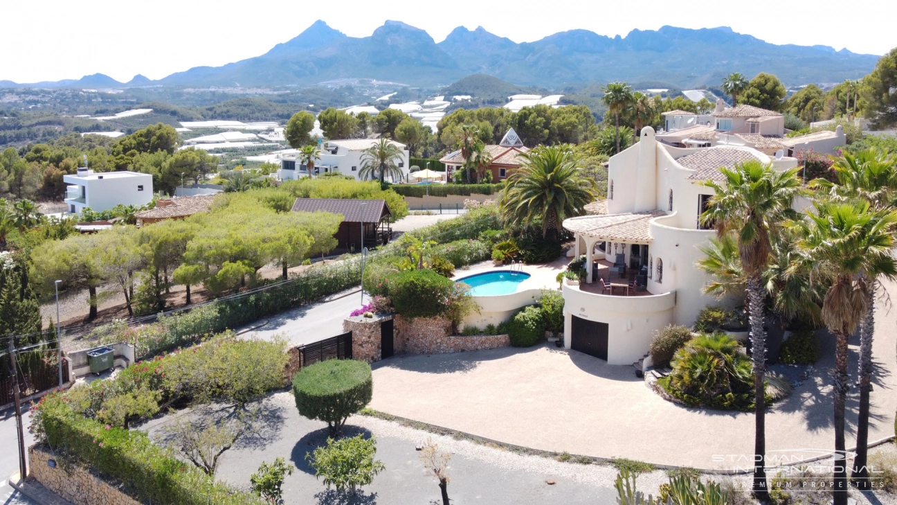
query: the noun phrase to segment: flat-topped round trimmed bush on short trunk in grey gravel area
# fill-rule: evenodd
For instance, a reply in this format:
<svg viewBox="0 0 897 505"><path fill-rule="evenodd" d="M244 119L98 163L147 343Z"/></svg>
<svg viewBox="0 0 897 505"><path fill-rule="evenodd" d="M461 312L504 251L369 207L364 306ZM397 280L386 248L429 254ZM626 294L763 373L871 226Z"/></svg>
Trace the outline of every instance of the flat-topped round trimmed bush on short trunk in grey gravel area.
<svg viewBox="0 0 897 505"><path fill-rule="evenodd" d="M345 420L361 412L374 393L370 365L354 359L327 359L302 368L292 379L292 394L299 413L327 422L336 438Z"/></svg>

